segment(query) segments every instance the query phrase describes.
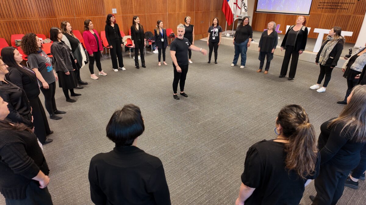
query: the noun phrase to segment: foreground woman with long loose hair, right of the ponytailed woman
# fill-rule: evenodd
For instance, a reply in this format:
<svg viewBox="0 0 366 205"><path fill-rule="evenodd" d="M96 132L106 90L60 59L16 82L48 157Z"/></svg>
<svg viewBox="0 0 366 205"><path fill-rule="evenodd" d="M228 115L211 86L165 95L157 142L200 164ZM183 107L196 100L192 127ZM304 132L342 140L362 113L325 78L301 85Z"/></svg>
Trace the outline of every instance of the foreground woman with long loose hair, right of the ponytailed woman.
<svg viewBox="0 0 366 205"><path fill-rule="evenodd" d="M342 196L344 182L360 162L360 151L366 143L366 85L355 86L340 115L323 123L320 131L317 195L310 199L313 204L333 205Z"/></svg>

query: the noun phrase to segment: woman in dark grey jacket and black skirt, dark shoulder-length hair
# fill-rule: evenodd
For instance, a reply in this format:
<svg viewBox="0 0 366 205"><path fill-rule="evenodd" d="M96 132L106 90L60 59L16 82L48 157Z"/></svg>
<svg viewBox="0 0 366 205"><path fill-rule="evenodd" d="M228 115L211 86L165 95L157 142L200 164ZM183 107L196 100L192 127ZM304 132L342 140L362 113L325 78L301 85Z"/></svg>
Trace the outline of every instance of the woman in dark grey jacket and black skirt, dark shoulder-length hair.
<svg viewBox="0 0 366 205"><path fill-rule="evenodd" d="M53 41L51 53L55 59L55 70L59 77L59 87L62 88L67 102L76 102L68 94L68 90L70 90L71 96L81 96L81 94L74 92L74 88L77 85L74 73L76 59L71 49L61 40L62 36L61 30L57 27L52 27L49 30L49 37Z"/></svg>

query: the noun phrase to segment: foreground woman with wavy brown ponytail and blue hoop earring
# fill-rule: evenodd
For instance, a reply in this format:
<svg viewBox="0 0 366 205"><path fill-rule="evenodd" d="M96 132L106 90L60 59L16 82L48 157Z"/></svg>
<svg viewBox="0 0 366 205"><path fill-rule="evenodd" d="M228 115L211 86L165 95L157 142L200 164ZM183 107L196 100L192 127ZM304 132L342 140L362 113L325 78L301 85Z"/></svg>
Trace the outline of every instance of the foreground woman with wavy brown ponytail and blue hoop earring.
<svg viewBox="0 0 366 205"><path fill-rule="evenodd" d="M315 131L304 108L283 107L275 133L249 148L236 205L299 204L308 180L318 176Z"/></svg>

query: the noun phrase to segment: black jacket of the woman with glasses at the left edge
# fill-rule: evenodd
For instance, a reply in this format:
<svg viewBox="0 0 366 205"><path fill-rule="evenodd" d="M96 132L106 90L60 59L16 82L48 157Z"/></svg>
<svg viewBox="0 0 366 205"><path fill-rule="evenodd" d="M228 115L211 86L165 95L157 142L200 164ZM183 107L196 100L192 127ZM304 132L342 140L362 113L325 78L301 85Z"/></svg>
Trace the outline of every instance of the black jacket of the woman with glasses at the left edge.
<svg viewBox="0 0 366 205"><path fill-rule="evenodd" d="M6 80L0 81L0 96L8 103L9 115L6 117L14 123L23 123L29 128L33 128L31 120L23 116L31 116L31 107L25 91L22 88Z"/></svg>

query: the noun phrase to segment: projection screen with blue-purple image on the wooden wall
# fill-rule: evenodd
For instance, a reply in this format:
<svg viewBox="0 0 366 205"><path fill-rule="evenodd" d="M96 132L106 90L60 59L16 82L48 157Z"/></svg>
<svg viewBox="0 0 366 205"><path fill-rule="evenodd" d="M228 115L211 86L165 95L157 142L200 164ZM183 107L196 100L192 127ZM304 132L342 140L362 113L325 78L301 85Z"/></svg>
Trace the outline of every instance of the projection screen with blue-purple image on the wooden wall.
<svg viewBox="0 0 366 205"><path fill-rule="evenodd" d="M257 12L309 15L312 0L258 0Z"/></svg>

